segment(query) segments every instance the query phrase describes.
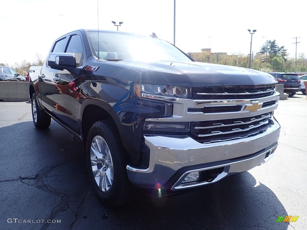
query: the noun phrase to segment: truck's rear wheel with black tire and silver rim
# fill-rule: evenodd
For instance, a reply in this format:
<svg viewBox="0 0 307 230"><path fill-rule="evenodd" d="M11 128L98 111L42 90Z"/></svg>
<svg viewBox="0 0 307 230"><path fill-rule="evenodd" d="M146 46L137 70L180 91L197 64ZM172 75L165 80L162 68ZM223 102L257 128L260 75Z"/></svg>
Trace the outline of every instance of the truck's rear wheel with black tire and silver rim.
<svg viewBox="0 0 307 230"><path fill-rule="evenodd" d="M32 118L35 128L39 129L48 128L50 126L51 117L47 113L44 113L43 111L40 110L35 93L32 94L31 108L32 108Z"/></svg>

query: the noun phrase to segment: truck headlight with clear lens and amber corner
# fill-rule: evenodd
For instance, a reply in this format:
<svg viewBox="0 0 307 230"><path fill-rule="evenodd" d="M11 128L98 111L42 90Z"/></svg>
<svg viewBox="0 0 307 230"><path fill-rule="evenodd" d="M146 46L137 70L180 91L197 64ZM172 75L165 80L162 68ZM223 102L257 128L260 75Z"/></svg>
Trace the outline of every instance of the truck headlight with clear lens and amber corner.
<svg viewBox="0 0 307 230"><path fill-rule="evenodd" d="M155 98L156 96L191 98L191 87L134 83L134 93L139 99Z"/></svg>

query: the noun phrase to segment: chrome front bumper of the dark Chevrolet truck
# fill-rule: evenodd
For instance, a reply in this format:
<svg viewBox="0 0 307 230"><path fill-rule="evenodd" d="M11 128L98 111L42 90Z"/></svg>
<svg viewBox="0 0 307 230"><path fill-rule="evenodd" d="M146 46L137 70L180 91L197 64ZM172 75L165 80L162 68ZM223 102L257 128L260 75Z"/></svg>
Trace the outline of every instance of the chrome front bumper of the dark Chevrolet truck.
<svg viewBox="0 0 307 230"><path fill-rule="evenodd" d="M250 170L273 156L280 125L274 117L272 121L271 127L259 135L211 144L201 144L189 136L144 135L145 144L150 148L149 167L138 169L127 165L129 180L145 187L172 183L172 190L178 190L206 184L179 186L190 171L224 167L223 173L213 181L216 182L227 175ZM266 157L268 152L272 154Z"/></svg>

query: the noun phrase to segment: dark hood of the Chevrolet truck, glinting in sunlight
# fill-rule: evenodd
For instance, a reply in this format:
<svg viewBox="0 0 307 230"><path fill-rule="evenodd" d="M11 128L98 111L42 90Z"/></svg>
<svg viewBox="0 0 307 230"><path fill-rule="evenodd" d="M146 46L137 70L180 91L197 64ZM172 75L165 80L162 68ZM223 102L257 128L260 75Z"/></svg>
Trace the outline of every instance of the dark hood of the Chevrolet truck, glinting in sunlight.
<svg viewBox="0 0 307 230"><path fill-rule="evenodd" d="M140 71L145 84L198 87L277 83L270 74L242 67L193 61L142 62L121 60L117 63Z"/></svg>

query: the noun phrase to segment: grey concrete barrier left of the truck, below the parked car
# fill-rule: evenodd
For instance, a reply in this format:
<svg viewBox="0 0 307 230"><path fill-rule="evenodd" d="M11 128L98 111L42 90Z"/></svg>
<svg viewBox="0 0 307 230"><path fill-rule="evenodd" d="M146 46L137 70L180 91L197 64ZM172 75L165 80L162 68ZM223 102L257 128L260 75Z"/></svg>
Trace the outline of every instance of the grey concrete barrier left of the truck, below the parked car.
<svg viewBox="0 0 307 230"><path fill-rule="evenodd" d="M0 101L29 101L29 82L0 82Z"/></svg>

